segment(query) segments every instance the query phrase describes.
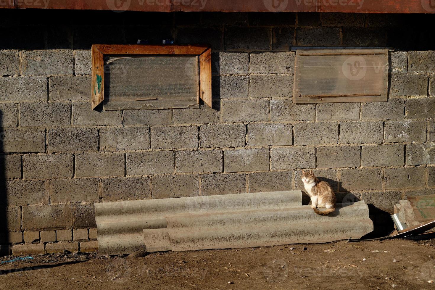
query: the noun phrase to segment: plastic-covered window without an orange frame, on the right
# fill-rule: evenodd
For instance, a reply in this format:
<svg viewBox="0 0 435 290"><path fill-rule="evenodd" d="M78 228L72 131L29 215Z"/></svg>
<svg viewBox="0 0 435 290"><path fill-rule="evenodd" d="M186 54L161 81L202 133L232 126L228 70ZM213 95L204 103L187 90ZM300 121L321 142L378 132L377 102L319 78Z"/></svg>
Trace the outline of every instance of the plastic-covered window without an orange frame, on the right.
<svg viewBox="0 0 435 290"><path fill-rule="evenodd" d="M298 50L293 102L383 102L388 50Z"/></svg>

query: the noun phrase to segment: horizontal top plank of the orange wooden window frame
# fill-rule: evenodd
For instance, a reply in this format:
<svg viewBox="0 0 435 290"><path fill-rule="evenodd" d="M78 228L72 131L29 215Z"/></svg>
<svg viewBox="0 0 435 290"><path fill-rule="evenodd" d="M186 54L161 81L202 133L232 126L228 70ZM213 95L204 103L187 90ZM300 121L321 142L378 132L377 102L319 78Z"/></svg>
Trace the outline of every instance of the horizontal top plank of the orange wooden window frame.
<svg viewBox="0 0 435 290"><path fill-rule="evenodd" d="M103 54L201 54L207 50L204 45L108 45L95 44Z"/></svg>

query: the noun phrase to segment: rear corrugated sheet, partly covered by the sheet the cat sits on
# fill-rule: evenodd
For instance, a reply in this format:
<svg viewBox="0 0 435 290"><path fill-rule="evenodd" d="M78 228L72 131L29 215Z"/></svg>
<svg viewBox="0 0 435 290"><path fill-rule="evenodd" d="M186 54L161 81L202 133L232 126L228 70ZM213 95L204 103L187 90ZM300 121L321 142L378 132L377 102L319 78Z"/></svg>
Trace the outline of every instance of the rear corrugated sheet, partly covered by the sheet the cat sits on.
<svg viewBox="0 0 435 290"><path fill-rule="evenodd" d="M166 228L171 214L279 209L301 202L297 190L95 203L98 251L116 255L145 250L143 230Z"/></svg>

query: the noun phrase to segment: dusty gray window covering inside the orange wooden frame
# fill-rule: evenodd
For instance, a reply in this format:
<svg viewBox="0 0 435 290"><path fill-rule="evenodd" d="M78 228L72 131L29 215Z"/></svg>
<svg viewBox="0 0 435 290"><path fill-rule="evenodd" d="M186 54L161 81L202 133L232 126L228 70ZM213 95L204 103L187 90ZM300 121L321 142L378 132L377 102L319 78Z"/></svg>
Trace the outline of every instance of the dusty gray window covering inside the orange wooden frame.
<svg viewBox="0 0 435 290"><path fill-rule="evenodd" d="M104 110L197 108L197 56L107 57Z"/></svg>

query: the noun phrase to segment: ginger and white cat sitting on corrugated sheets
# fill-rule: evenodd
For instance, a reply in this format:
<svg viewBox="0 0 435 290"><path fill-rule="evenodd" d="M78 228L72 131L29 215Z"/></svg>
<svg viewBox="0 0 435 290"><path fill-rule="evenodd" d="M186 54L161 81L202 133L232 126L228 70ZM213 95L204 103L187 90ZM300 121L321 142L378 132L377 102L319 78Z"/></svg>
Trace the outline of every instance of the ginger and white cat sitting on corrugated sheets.
<svg viewBox="0 0 435 290"><path fill-rule="evenodd" d="M311 198L311 208L321 216L326 216L335 211L335 197L334 190L326 181L320 181L314 176L313 170L302 170L301 176L304 183L305 190ZM326 207L326 210L320 211L317 208Z"/></svg>

